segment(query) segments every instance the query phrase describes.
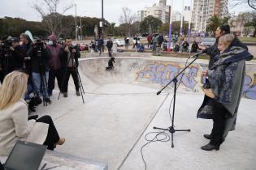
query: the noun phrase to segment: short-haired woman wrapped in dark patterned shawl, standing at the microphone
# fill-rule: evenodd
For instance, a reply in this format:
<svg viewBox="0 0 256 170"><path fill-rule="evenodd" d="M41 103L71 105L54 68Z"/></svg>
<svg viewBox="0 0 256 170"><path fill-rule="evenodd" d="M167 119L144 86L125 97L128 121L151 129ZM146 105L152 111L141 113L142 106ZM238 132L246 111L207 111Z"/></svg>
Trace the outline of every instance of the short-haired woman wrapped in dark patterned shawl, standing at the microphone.
<svg viewBox="0 0 256 170"><path fill-rule="evenodd" d="M219 38L220 54L215 56L210 70L202 73L209 81L203 91L212 100L202 104L197 117L212 117L214 121L208 138L210 142L201 147L202 150L219 150L236 120L245 79L245 60L249 61L253 56L241 47L232 46L233 40L232 34Z"/></svg>

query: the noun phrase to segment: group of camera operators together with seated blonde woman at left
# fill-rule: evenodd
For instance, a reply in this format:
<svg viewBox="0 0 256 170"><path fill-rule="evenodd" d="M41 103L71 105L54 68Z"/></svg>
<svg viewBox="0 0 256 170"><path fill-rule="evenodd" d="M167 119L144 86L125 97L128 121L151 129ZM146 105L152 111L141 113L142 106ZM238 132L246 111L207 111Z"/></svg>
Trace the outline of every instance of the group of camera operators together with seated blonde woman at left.
<svg viewBox="0 0 256 170"><path fill-rule="evenodd" d="M56 36L32 40L22 33L1 41L0 46L0 155L8 155L17 140L44 144L49 150L62 145L50 116L31 116L36 106L50 104L55 79L67 97L70 74L80 96L77 67L80 49L66 38L60 45Z"/></svg>

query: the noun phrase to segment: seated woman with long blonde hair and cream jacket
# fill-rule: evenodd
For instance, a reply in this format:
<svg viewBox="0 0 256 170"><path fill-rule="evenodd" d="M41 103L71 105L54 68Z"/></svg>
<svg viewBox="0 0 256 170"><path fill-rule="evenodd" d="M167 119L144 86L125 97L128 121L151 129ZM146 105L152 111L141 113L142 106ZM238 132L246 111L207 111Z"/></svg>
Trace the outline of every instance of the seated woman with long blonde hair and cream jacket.
<svg viewBox="0 0 256 170"><path fill-rule="evenodd" d="M0 87L0 155L9 155L17 140L44 144L52 151L65 142L51 117L28 121L28 105L23 99L27 82L27 74L13 71Z"/></svg>

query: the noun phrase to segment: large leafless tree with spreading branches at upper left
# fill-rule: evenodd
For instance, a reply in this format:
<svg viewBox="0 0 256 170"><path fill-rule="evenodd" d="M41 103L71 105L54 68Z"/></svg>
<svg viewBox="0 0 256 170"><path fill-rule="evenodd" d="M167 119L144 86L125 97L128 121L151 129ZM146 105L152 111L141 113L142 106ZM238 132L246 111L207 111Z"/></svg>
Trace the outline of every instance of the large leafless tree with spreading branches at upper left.
<svg viewBox="0 0 256 170"><path fill-rule="evenodd" d="M72 8L73 5L66 6L63 11L59 12L59 2L61 0L40 0L40 2L33 2L33 9L35 9L43 19L43 23L46 26L46 30L50 34L57 36L65 32L63 27L63 14Z"/></svg>

